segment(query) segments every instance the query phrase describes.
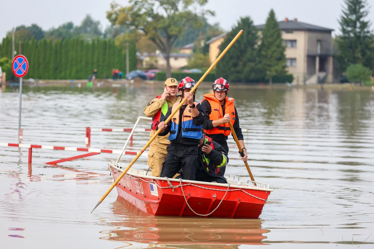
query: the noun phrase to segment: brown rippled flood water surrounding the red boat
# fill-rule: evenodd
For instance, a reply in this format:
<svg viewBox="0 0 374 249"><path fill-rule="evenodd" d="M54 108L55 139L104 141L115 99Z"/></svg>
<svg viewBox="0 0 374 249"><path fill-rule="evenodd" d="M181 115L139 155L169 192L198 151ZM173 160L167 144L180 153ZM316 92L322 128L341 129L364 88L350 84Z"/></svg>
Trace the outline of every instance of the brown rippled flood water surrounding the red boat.
<svg viewBox="0 0 374 249"><path fill-rule="evenodd" d="M91 214L117 155L49 166L85 152L33 149L29 166L27 148L0 146L0 248L374 248L373 93L232 89L254 178L274 189L260 219L152 217L116 190ZM199 87L197 101L208 91ZM152 84L30 88L22 143L85 147L85 127L131 128L160 93ZM18 102L17 91L0 93L0 143L18 143ZM92 131L91 147L120 150L127 137ZM135 133L134 150L147 139ZM229 146L226 174L249 178L232 137ZM133 167L147 169L147 156Z"/></svg>

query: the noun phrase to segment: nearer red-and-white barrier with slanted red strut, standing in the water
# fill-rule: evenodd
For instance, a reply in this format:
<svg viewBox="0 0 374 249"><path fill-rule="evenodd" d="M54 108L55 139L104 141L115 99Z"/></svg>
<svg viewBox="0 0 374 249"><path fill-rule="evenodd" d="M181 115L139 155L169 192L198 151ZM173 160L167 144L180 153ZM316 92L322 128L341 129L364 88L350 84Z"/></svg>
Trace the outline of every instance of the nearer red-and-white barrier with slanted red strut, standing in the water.
<svg viewBox="0 0 374 249"><path fill-rule="evenodd" d="M121 154L121 150L106 150L106 149L93 149L93 148L78 148L78 147L62 147L62 146L51 146L51 145L36 145L36 144L23 144L23 143L0 143L0 146L7 146L7 147L21 147L21 148L29 148L28 149L28 162L31 163L32 157L32 149L48 149L48 150L70 150L70 151L85 151L85 152L95 152L90 153L90 155L85 154L86 156L97 155L98 153L110 153L110 154ZM125 155L137 155L138 152L136 151L125 151L123 152ZM61 159L58 161L53 161L50 163L56 164L57 162L65 162L74 159L82 158L81 156L75 156L73 158L68 158L69 160Z"/></svg>

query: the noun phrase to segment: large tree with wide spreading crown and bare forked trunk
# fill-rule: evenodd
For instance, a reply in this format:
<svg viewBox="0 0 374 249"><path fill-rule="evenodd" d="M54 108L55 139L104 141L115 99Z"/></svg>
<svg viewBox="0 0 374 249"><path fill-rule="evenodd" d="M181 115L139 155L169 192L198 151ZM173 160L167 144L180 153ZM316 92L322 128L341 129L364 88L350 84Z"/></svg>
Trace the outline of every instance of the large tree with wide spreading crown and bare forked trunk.
<svg viewBox="0 0 374 249"><path fill-rule="evenodd" d="M107 18L112 24L133 26L165 53L166 74L171 75L170 52L175 41L191 27L201 28L201 18L214 13L203 9L208 0L130 0L122 7L111 3Z"/></svg>

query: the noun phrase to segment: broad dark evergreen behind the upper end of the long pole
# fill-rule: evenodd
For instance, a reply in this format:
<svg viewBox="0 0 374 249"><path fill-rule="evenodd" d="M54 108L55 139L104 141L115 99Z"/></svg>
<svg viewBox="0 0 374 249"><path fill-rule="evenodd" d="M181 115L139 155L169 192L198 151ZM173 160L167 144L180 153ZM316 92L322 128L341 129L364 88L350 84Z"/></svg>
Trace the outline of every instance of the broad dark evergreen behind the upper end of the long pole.
<svg viewBox="0 0 374 249"><path fill-rule="evenodd" d="M226 35L221 50L229 45L240 29L243 29L243 34L216 66L217 72L220 73L217 76L229 82L260 82L265 75L264 71L260 70L257 29L251 18L240 18L237 25Z"/></svg>

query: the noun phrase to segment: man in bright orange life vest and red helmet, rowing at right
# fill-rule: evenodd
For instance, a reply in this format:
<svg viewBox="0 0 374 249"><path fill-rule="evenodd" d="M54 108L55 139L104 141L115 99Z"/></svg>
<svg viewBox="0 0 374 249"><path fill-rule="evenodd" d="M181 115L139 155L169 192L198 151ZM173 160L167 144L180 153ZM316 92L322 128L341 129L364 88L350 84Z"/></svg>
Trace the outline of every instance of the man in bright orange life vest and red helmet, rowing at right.
<svg viewBox="0 0 374 249"><path fill-rule="evenodd" d="M221 77L214 81L212 89L214 93L205 94L201 102L205 117L203 124L204 131L213 141L219 143L228 155L229 146L227 145L227 138L231 133L228 123L231 122L244 152L242 160L246 162L248 159L247 149L244 145L242 129L239 127L239 117L234 106L234 99L227 97L227 92L230 90L229 83ZM221 168L223 173L225 170L226 167Z"/></svg>

